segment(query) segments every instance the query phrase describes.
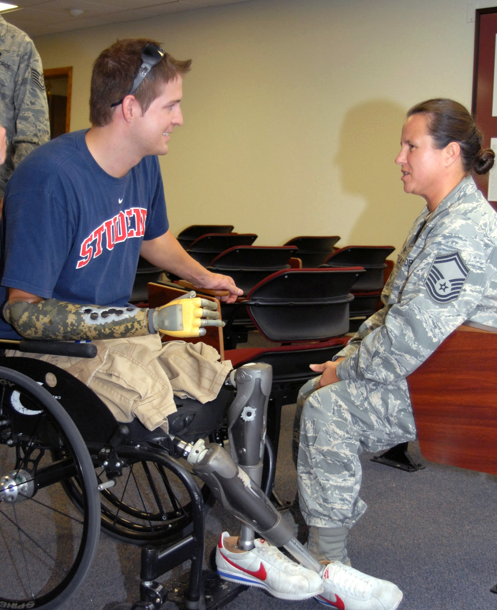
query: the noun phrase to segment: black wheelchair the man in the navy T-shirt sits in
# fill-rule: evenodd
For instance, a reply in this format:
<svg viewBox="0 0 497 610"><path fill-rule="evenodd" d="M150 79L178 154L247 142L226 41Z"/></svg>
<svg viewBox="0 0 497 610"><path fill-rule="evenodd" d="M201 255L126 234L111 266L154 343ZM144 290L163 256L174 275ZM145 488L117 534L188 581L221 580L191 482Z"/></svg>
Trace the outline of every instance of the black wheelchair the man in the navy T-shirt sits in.
<svg viewBox="0 0 497 610"><path fill-rule="evenodd" d="M21 342L23 351L36 352L45 343L50 344L46 353L69 348L72 354L83 350L91 356L88 351L94 348ZM9 347L6 342L2 346ZM255 465L249 468L259 471L259 483L262 439L268 494L275 460L269 440L264 442L270 380L265 385L267 396L258 397L259 404L265 403L264 422L259 418L259 431L249 432L255 416L252 407L243 407L246 422L238 434L255 447ZM186 607L203 606L204 517L214 500L212 489L218 499L220 493L215 485L199 485L188 464L173 456L186 456L194 440L209 436L221 443L228 436L222 426L233 388L222 389L208 408L178 399L178 411L169 416L173 441L136 420L119 424L88 387L49 362L0 357L0 386L0 608L55 609L67 601L90 569L100 528L143 547L140 601L133 608L160 608L167 592L155 579L186 559L192 559ZM241 453L250 454L250 447ZM243 527L250 539L253 529ZM229 599L233 591L246 588L233 585L228 592L226 585L223 595L229 593Z"/></svg>

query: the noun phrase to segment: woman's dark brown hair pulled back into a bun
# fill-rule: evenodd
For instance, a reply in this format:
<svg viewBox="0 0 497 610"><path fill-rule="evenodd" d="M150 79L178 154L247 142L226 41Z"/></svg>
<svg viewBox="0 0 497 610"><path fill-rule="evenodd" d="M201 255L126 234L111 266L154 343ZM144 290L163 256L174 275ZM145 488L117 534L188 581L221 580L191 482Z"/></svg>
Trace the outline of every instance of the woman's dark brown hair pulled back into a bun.
<svg viewBox="0 0 497 610"><path fill-rule="evenodd" d="M453 99L428 99L413 106L407 117L420 113L428 115L428 133L436 148L459 144L465 173L486 174L492 169L495 154L491 148L482 148L483 134L462 104Z"/></svg>

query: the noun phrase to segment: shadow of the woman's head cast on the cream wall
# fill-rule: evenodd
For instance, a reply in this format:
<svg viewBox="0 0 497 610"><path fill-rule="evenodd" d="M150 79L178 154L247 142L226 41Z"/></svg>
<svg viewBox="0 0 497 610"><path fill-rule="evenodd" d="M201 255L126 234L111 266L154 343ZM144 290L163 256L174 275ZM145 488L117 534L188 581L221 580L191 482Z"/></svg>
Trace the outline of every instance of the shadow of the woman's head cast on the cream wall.
<svg viewBox="0 0 497 610"><path fill-rule="evenodd" d="M335 162L342 189L365 201L349 244L400 248L423 207L417 197L412 197L412 206L406 205L400 167L395 165L405 118L403 107L383 100L356 106L345 116Z"/></svg>

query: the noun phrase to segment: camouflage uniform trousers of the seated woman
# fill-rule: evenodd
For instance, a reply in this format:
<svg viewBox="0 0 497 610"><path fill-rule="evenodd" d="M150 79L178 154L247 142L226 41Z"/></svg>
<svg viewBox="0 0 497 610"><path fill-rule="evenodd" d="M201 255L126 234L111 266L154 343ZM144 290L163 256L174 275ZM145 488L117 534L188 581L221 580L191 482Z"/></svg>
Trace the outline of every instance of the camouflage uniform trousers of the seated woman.
<svg viewBox="0 0 497 610"><path fill-rule="evenodd" d="M318 380L308 381L297 399L300 510L308 525L351 528L366 510L359 498L362 450L416 438L409 390L406 381L358 379L315 390Z"/></svg>

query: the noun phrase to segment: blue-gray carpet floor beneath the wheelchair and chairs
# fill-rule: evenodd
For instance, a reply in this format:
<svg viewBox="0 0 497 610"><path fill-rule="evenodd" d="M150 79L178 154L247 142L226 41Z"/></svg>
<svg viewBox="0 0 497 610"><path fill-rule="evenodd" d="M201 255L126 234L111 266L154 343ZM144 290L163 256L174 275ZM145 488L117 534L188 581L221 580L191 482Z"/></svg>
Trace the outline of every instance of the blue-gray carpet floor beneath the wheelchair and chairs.
<svg viewBox="0 0 497 610"><path fill-rule="evenodd" d="M276 490L293 501L297 489L291 459L294 406L283 409ZM417 443L410 453L425 470L406 473L361 456L362 498L368 511L348 543L354 567L387 578L404 592L401 610L497 610L497 478L426 462ZM489 448L490 451L494 450ZM231 515L215 505L208 515L206 554L224 529L236 533ZM164 575L174 587L188 564ZM96 561L76 596L63 610L110 610L138 600L139 548L100 537ZM314 600L289 602L254 587L231 601L228 610L317 610ZM167 603L164 609L174 606Z"/></svg>

